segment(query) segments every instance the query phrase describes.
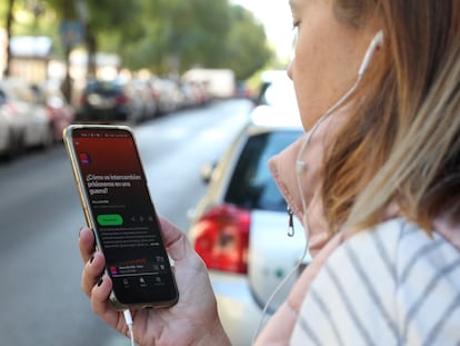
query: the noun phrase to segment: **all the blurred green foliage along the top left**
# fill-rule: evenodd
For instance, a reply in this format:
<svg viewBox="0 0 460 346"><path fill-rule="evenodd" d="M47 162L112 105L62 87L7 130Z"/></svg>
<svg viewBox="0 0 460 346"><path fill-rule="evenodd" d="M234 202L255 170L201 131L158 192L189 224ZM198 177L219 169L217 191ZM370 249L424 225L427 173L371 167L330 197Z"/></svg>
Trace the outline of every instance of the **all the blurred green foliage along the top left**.
<svg viewBox="0 0 460 346"><path fill-rule="evenodd" d="M14 11L30 2L14 1ZM81 20L76 6L79 1L83 0L36 0L44 12L36 17L34 23L17 23L13 34L24 34L28 30L36 34L40 28L60 47L59 23ZM6 1L1 2L0 16L4 21ZM132 70L148 68L156 73L181 73L197 66L231 68L241 80L273 58L263 27L251 12L230 4L229 0L86 0L86 3L87 40L96 43L92 49L118 53L123 67Z"/></svg>

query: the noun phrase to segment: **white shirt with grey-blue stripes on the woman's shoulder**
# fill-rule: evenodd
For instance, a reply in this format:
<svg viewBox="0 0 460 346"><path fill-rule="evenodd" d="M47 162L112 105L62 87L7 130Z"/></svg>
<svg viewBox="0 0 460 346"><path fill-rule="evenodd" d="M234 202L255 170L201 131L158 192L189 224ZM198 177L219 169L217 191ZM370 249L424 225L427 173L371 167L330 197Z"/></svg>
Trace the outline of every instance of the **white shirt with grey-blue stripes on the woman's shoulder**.
<svg viewBox="0 0 460 346"><path fill-rule="evenodd" d="M290 345L460 346L460 251L403 218L338 247L312 281Z"/></svg>

